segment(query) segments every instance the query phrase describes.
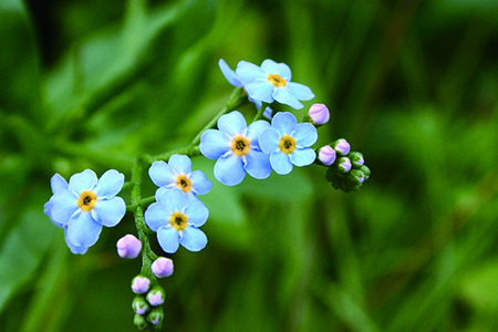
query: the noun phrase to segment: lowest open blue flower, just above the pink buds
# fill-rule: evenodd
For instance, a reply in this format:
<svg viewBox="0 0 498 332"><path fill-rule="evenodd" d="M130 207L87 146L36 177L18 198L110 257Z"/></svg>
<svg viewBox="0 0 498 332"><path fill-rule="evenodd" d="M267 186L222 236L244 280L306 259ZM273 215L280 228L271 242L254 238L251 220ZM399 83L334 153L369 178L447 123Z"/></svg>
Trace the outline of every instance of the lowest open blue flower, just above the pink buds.
<svg viewBox="0 0 498 332"><path fill-rule="evenodd" d="M206 247L206 235L198 227L206 222L209 210L200 200L188 199L178 188L165 187L157 189L156 200L145 210L145 224L157 232L165 252L175 252L179 245L190 251Z"/></svg>

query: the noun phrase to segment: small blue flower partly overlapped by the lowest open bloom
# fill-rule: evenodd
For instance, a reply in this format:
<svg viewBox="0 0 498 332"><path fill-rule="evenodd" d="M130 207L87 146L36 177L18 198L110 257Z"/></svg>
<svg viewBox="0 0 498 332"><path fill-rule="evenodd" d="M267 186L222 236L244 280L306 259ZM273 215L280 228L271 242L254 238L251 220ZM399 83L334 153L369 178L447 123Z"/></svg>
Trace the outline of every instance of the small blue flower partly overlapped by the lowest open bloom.
<svg viewBox="0 0 498 332"><path fill-rule="evenodd" d="M212 186L203 170L191 172L191 160L185 155L173 155L167 164L163 160L154 162L148 175L156 186L179 188L189 198L209 193Z"/></svg>

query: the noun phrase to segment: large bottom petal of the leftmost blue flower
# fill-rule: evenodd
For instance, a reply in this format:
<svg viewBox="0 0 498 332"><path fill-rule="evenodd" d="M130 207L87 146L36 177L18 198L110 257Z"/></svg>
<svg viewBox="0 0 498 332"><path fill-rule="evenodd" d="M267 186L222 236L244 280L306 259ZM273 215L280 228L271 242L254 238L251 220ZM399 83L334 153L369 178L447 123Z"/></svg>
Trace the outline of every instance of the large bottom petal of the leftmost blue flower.
<svg viewBox="0 0 498 332"><path fill-rule="evenodd" d="M95 245L101 234L102 225L93 220L92 214L79 211L68 225L68 238L76 247Z"/></svg>

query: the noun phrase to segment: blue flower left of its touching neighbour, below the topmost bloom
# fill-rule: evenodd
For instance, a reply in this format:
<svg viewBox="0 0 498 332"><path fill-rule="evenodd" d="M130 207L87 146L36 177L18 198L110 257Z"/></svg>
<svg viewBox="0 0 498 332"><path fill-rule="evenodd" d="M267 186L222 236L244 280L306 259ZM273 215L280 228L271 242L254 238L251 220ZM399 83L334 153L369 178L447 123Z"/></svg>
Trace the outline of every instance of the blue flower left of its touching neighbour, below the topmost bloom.
<svg viewBox="0 0 498 332"><path fill-rule="evenodd" d="M270 176L269 157L258 143L259 134L269 128L266 121L256 121L247 126L243 115L237 111L220 116L218 131L207 129L200 136L200 153L215 164L215 177L227 186L242 181L246 172L262 179Z"/></svg>

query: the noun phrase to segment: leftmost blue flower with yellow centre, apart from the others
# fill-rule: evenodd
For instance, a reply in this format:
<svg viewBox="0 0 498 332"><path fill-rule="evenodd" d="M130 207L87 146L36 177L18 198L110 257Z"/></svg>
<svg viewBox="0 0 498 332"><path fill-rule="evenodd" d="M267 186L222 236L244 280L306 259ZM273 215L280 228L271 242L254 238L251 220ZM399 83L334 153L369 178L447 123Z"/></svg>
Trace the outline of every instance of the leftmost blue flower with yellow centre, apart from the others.
<svg viewBox="0 0 498 332"><path fill-rule="evenodd" d="M52 177L54 195L45 205L45 214L66 230L71 251L86 251L97 241L102 226L114 227L123 219L126 205L123 198L115 197L123 183L124 175L115 169L104 173L101 179L85 169L73 175L66 186L59 175Z"/></svg>

